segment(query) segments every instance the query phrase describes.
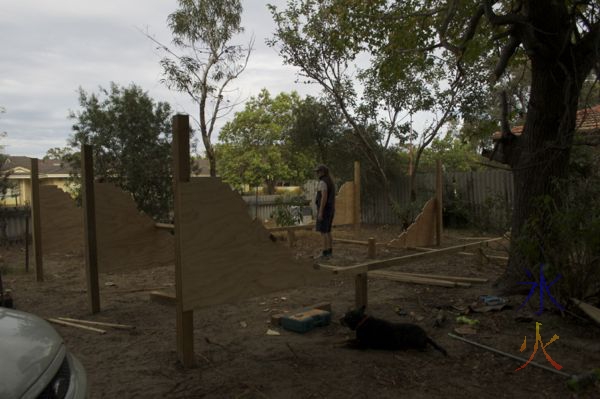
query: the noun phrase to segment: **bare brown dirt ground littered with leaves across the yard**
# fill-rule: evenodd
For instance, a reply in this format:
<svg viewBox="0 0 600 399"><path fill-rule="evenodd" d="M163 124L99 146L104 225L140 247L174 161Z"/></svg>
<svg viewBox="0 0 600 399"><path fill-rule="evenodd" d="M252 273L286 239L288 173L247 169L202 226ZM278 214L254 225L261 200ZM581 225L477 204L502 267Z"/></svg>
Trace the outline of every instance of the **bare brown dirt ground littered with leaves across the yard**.
<svg viewBox="0 0 600 399"><path fill-rule="evenodd" d="M398 234L395 228L363 227L335 232L337 237L384 242ZM446 231L444 246L465 242L466 231ZM319 253L314 233L298 234L295 248L302 257ZM285 245L282 243L282 245ZM171 267L128 274L101 275L102 311L88 313L83 259L81 256L45 258L46 281L37 283L35 273L24 272L24 249L2 248L4 284L13 290L18 309L41 317L73 317L134 325L135 330L109 330L100 335L55 325L67 347L82 361L90 398L571 398L566 379L529 365L520 365L489 351L448 336L462 310L479 295L493 294L491 282L503 265L480 265L475 256L449 254L392 269L490 279L470 288L443 288L369 278L368 313L395 322L413 322L449 353L408 350L387 352L356 350L344 346L353 333L338 319L352 307L352 276L333 275L320 286L302 287L253 298L242 303L200 309L194 312L197 367L183 369L175 352L175 310L150 302L152 290L174 291ZM502 255L501 248L486 249ZM411 253L378 249L378 258ZM366 260L366 247L338 244L331 264L347 265ZM32 268L33 269L33 268ZM330 273L323 271L323 273ZM471 313L480 326L468 339L516 356L533 352L536 321L542 323L546 348L563 366L577 374L600 367L600 328L570 313L561 315L549 306L536 316L533 302L517 311L525 296L510 297L512 309ZM272 314L303 306L330 302L333 322L306 334L270 326ZM546 301L550 303L550 301ZM551 305L551 304L550 304ZM434 327L439 309L447 315ZM402 314L402 315L401 315ZM530 317L531 321L517 321ZM266 335L267 329L280 332ZM519 349L527 336L527 348ZM535 361L552 367L541 348ZM600 398L600 385L581 398Z"/></svg>

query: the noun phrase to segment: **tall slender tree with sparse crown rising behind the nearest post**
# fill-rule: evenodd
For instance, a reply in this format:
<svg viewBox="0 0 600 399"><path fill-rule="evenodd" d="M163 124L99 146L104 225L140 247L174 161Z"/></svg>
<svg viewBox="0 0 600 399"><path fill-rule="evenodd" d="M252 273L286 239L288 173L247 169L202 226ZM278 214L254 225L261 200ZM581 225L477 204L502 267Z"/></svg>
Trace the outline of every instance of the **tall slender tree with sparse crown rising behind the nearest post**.
<svg viewBox="0 0 600 399"><path fill-rule="evenodd" d="M240 0L178 0L179 9L169 15L173 33L171 49L153 37L167 56L161 60L163 82L170 89L187 93L198 105L198 120L210 175L216 176L216 158L211 138L216 121L236 105L227 88L246 69L253 39L246 48L231 44L243 32Z"/></svg>

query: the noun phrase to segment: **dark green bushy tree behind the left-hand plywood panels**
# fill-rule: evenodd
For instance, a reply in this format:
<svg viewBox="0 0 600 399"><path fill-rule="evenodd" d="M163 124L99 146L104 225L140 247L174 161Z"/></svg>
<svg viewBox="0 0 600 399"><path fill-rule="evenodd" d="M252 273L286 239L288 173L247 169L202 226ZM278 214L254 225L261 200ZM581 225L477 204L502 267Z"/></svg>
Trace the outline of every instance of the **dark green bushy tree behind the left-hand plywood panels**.
<svg viewBox="0 0 600 399"><path fill-rule="evenodd" d="M81 170L79 150L93 147L96 178L132 194L138 209L155 219L169 219L172 209L171 107L152 100L131 84L99 93L79 89L82 110L70 112L74 133L68 143L74 175Z"/></svg>

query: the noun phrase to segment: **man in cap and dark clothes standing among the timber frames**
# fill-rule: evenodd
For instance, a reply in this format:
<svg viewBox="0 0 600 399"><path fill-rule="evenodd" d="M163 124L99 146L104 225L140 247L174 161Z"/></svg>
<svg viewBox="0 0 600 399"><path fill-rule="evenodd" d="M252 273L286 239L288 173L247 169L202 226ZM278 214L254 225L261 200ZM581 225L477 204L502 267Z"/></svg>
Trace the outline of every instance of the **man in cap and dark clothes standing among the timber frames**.
<svg viewBox="0 0 600 399"><path fill-rule="evenodd" d="M333 239L331 237L331 226L335 214L335 185L329 175L329 168L325 165L319 165L315 168L319 178L317 187L317 228L323 237L322 257L333 255Z"/></svg>

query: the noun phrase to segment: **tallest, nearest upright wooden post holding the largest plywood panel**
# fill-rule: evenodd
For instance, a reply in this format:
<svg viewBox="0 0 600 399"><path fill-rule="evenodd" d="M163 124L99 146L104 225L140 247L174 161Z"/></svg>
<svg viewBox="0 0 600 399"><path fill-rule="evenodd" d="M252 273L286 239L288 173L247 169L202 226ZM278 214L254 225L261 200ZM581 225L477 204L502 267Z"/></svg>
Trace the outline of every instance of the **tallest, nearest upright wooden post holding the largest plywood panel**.
<svg viewBox="0 0 600 399"><path fill-rule="evenodd" d="M175 115L173 124L173 178L175 186L175 306L177 318L177 357L184 367L194 362L194 312L183 310L181 264L181 193L179 183L190 181L190 122L188 115Z"/></svg>

